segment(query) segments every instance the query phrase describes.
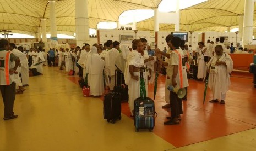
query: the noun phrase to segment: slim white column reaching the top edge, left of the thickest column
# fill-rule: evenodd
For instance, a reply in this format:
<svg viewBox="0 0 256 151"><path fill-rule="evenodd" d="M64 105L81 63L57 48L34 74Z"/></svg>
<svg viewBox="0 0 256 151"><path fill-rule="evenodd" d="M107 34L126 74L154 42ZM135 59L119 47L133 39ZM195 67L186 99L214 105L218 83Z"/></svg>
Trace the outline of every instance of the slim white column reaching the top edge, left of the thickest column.
<svg viewBox="0 0 256 151"><path fill-rule="evenodd" d="M49 1L50 22L51 22L51 47L55 47L55 45L58 44L55 3L56 3L55 1Z"/></svg>

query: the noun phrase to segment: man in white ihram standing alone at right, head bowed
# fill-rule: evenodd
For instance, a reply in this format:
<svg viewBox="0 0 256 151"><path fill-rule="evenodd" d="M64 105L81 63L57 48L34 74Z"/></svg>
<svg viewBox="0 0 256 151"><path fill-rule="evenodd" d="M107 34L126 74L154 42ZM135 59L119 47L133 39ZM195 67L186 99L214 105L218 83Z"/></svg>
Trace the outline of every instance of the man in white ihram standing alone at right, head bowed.
<svg viewBox="0 0 256 151"><path fill-rule="evenodd" d="M215 55L208 63L208 86L213 92L210 103L225 104L226 94L230 83L230 73L233 70L233 61L230 55L223 52L221 45L216 45Z"/></svg>

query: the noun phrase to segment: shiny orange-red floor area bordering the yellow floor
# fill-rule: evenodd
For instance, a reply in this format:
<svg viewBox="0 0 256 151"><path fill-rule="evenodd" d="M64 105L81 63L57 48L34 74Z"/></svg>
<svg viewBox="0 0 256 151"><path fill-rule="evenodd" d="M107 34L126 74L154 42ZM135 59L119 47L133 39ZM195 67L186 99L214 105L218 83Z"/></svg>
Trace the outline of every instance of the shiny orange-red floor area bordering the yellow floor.
<svg viewBox="0 0 256 151"><path fill-rule="evenodd" d="M170 113L161 108L165 104L165 77L160 75L155 99L158 116L155 119L154 133L175 147L183 147L255 128L256 88L253 87L252 77L252 74L246 72L232 73L225 105L209 103L209 88L203 104L204 83L189 79L188 100L183 101L181 123L164 125ZM68 79L78 84L77 76ZM148 90L148 96L154 98L154 85L149 85ZM129 117L128 103L122 103L122 113Z"/></svg>

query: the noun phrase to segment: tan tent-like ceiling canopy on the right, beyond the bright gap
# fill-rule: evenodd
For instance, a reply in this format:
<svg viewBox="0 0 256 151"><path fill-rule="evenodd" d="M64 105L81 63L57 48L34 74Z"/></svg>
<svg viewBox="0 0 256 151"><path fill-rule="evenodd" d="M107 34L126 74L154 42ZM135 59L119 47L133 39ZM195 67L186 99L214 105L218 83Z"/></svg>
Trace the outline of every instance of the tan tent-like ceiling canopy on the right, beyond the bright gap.
<svg viewBox="0 0 256 151"><path fill-rule="evenodd" d="M256 12L254 3L254 12ZM244 12L244 0L209 0L181 10L180 28L186 31L227 31L227 27L238 28L239 16ZM254 25L256 17L254 15ZM138 30L154 30L154 18L141 21L137 24ZM160 31L175 31L174 24L159 24ZM256 31L255 31L256 32ZM254 33L255 33L254 32Z"/></svg>

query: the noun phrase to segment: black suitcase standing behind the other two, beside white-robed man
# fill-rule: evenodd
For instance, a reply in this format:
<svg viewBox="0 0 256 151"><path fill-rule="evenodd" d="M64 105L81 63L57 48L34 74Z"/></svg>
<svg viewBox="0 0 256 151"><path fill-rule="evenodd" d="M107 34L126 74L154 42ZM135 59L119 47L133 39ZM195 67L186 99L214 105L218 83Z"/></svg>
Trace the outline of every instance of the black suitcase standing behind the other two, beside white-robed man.
<svg viewBox="0 0 256 151"><path fill-rule="evenodd" d="M121 94L122 102L127 102L129 100L128 85L124 83L124 75L120 69L115 70L114 92Z"/></svg>

